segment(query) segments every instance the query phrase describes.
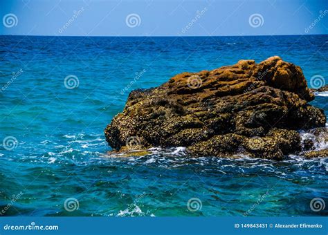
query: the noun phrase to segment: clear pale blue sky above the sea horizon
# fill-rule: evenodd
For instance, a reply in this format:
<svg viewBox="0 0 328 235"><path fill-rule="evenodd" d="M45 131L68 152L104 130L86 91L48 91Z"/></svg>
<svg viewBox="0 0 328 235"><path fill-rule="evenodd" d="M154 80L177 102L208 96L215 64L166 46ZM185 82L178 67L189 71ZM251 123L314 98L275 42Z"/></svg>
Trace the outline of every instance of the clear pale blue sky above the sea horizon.
<svg viewBox="0 0 328 235"><path fill-rule="evenodd" d="M328 0L1 0L0 35L328 33Z"/></svg>

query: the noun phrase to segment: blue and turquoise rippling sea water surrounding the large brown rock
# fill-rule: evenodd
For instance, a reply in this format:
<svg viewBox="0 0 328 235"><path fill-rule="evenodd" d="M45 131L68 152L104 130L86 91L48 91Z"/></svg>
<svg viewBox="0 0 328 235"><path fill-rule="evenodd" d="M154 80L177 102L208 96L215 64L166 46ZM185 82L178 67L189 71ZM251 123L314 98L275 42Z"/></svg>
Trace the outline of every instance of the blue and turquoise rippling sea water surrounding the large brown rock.
<svg viewBox="0 0 328 235"><path fill-rule="evenodd" d="M0 145L3 215L327 216L328 205L313 212L310 202L328 203L328 159L193 158L181 148L107 154L103 130L132 89L273 55L327 84L327 35L0 36L0 144L17 140L12 150ZM78 87L64 86L69 75L78 77ZM327 114L327 99L317 96L312 104ZM75 200L65 209L68 198ZM188 209L190 198L199 198L201 209Z"/></svg>

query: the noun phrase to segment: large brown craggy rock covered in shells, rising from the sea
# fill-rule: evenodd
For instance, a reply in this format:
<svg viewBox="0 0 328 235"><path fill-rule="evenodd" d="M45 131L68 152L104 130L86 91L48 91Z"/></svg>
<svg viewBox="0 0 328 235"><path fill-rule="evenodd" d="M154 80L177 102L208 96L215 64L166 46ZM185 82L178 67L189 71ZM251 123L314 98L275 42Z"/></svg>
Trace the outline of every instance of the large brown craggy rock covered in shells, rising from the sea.
<svg viewBox="0 0 328 235"><path fill-rule="evenodd" d="M322 109L308 104L313 99L299 66L277 56L241 60L132 91L104 133L117 151L187 147L197 156L280 160L302 150L297 130L325 126Z"/></svg>

